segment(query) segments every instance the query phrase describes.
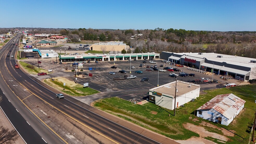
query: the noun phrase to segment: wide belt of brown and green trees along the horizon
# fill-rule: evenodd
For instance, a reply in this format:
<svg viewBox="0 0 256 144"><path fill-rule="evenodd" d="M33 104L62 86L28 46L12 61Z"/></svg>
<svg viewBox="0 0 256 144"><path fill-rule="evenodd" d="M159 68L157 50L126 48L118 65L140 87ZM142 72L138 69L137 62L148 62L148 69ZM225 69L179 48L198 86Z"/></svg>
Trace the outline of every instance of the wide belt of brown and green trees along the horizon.
<svg viewBox="0 0 256 144"><path fill-rule="evenodd" d="M15 31L16 29L29 30L28 33L31 34L67 36L72 42L77 42L79 39L89 41L123 41L134 48L133 53L161 53L161 51L175 53L206 52L256 58L256 31L193 31L172 28L167 30L162 28L154 30L0 28L0 34ZM142 34L142 36L137 34ZM211 45L203 48L203 44Z"/></svg>

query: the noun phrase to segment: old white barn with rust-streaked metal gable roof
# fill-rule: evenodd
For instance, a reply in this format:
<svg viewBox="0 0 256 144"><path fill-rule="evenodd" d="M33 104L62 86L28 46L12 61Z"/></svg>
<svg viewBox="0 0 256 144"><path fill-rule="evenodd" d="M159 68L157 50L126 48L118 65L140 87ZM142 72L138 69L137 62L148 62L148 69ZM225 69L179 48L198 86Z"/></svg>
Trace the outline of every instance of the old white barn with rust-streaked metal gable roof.
<svg viewBox="0 0 256 144"><path fill-rule="evenodd" d="M234 94L217 95L197 109L197 116L228 126L244 106L245 101Z"/></svg>

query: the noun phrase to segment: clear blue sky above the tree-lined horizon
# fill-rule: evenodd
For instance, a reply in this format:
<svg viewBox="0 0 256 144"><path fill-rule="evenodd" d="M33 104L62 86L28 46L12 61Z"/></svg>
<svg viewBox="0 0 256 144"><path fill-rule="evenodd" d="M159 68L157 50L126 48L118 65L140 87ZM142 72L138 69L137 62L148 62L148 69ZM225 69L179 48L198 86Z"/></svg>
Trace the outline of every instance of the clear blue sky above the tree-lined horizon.
<svg viewBox="0 0 256 144"><path fill-rule="evenodd" d="M7 0L0 28L256 31L255 0Z"/></svg>

